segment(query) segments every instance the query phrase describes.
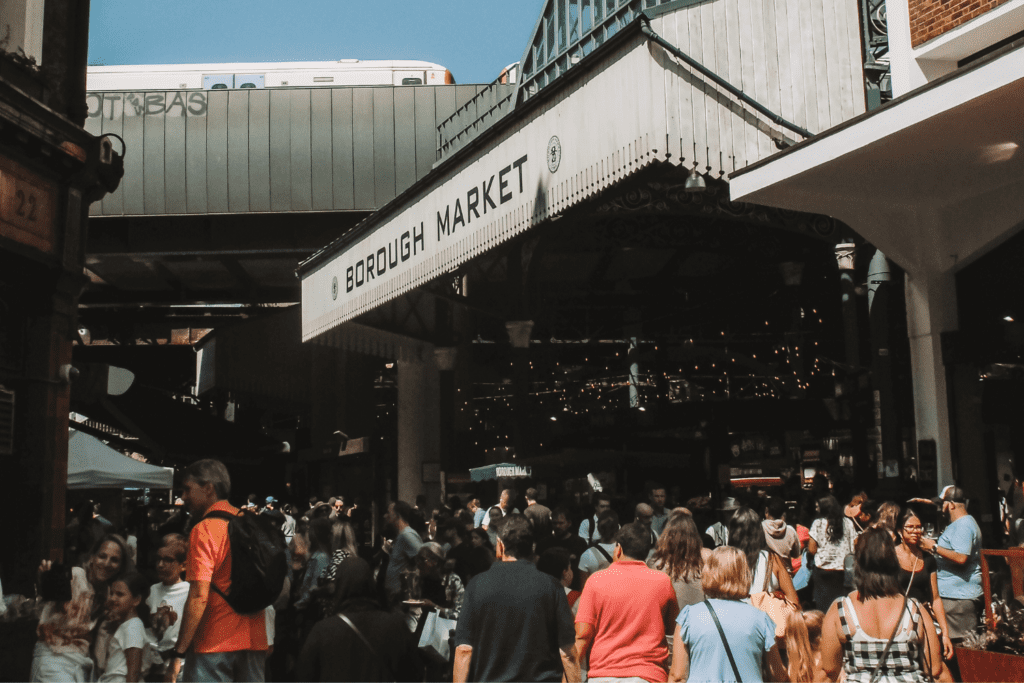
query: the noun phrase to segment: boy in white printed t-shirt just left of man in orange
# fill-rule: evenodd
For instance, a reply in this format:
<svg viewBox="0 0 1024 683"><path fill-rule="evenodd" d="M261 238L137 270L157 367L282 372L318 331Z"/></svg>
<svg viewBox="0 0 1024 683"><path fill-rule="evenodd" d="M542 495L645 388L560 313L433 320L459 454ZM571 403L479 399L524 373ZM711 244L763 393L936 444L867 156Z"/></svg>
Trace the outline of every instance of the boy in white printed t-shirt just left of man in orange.
<svg viewBox="0 0 1024 683"><path fill-rule="evenodd" d="M150 582L141 574L130 573L111 584L103 628L116 631L108 646L106 667L99 683L138 683L142 680L143 622L150 617L145 604L148 595Z"/></svg>

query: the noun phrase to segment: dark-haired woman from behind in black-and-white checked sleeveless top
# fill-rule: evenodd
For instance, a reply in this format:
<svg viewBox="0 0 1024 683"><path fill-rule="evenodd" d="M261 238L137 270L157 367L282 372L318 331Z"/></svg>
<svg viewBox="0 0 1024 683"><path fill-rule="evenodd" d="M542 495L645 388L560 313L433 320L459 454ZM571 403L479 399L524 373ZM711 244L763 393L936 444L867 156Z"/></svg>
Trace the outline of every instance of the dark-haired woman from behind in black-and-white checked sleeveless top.
<svg viewBox="0 0 1024 683"><path fill-rule="evenodd" d="M822 667L833 680L845 671L848 683L934 680L942 673L941 645L928 611L900 590L889 531L864 531L855 557L856 590L833 602L825 615Z"/></svg>

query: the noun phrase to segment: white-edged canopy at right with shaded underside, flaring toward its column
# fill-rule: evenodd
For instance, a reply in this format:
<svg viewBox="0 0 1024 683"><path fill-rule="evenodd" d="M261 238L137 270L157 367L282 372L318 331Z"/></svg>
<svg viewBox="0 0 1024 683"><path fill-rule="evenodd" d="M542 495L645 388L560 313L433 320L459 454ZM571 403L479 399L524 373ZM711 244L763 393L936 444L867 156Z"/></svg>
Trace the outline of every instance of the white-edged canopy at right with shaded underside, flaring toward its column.
<svg viewBox="0 0 1024 683"><path fill-rule="evenodd" d="M962 266L1020 222L1022 103L1024 39L737 171L730 197L839 218L911 272Z"/></svg>

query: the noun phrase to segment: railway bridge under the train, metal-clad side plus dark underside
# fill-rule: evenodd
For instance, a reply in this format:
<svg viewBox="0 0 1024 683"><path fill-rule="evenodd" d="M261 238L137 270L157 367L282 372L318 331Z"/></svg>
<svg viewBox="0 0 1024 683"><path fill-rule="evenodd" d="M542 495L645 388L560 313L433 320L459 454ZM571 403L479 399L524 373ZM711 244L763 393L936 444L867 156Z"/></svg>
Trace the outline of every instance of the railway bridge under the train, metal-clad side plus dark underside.
<svg viewBox="0 0 1024 683"><path fill-rule="evenodd" d="M85 310L298 302L299 261L426 175L439 126L512 87L89 92L86 129L126 154L90 211Z"/></svg>

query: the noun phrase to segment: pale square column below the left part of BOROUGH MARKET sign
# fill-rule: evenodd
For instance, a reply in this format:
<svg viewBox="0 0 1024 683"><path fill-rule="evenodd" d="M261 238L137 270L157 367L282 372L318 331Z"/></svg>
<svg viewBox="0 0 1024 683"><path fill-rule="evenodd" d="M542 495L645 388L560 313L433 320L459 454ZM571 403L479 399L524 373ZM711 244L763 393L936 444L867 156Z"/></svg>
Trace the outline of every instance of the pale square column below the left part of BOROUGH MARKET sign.
<svg viewBox="0 0 1024 683"><path fill-rule="evenodd" d="M440 483L423 481L424 464L440 461L440 382L433 353L423 362L398 361L398 500L410 505Z"/></svg>

